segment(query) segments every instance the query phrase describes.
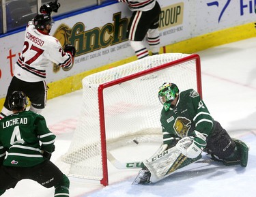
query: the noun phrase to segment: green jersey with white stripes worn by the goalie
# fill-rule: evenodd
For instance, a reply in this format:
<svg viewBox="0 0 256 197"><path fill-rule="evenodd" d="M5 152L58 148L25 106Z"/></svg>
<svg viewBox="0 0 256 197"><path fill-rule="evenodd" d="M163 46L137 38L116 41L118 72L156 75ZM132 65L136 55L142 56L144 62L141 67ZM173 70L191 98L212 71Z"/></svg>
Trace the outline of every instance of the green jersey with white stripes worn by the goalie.
<svg viewBox="0 0 256 197"><path fill-rule="evenodd" d="M188 89L180 93L177 104L169 110L162 109L160 122L164 144L192 136L194 130L209 136L213 130L213 118L197 91Z"/></svg>

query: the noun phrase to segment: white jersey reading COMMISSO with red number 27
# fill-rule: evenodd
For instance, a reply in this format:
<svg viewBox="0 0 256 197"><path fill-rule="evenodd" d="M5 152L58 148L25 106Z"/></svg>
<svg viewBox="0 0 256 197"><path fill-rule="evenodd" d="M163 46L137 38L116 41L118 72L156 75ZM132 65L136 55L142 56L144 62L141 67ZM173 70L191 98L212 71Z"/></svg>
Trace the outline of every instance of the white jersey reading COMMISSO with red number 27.
<svg viewBox="0 0 256 197"><path fill-rule="evenodd" d="M59 40L38 31L30 21L25 31L23 51L15 64L14 76L27 82L45 80L46 67L51 63L61 67L70 67L72 57L64 52Z"/></svg>

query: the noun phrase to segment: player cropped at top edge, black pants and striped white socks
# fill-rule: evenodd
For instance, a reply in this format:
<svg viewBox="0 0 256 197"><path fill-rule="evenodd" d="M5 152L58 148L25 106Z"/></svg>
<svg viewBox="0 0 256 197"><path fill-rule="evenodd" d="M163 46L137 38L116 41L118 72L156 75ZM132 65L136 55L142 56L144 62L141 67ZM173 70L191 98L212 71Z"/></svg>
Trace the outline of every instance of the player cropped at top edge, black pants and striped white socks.
<svg viewBox="0 0 256 197"><path fill-rule="evenodd" d="M159 16L160 5L156 0L118 0L127 3L133 12L128 25L128 39L138 59L149 56L147 47L143 43L147 35L147 43L152 50L152 55L156 55L160 50L159 38Z"/></svg>

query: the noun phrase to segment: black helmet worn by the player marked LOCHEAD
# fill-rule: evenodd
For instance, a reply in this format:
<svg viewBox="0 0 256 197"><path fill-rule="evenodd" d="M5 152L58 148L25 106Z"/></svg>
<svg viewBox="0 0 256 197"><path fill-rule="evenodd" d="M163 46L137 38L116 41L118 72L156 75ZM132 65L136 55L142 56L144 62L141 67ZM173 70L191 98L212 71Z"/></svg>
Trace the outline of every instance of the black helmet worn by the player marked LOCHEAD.
<svg viewBox="0 0 256 197"><path fill-rule="evenodd" d="M23 91L14 91L9 97L9 107L11 110L23 110L27 104L27 96Z"/></svg>

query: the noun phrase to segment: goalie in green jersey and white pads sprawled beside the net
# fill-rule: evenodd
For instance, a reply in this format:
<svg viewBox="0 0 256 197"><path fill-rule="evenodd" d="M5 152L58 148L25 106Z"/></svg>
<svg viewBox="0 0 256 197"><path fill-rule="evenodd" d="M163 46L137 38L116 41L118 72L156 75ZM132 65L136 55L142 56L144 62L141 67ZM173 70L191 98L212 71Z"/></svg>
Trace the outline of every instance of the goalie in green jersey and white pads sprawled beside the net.
<svg viewBox="0 0 256 197"><path fill-rule="evenodd" d="M160 123L163 143L149 159L133 184L155 183L201 158L204 151L213 160L230 166L246 167L248 147L231 138L215 121L197 91L180 92L177 85L165 82L158 97L163 105Z"/></svg>

